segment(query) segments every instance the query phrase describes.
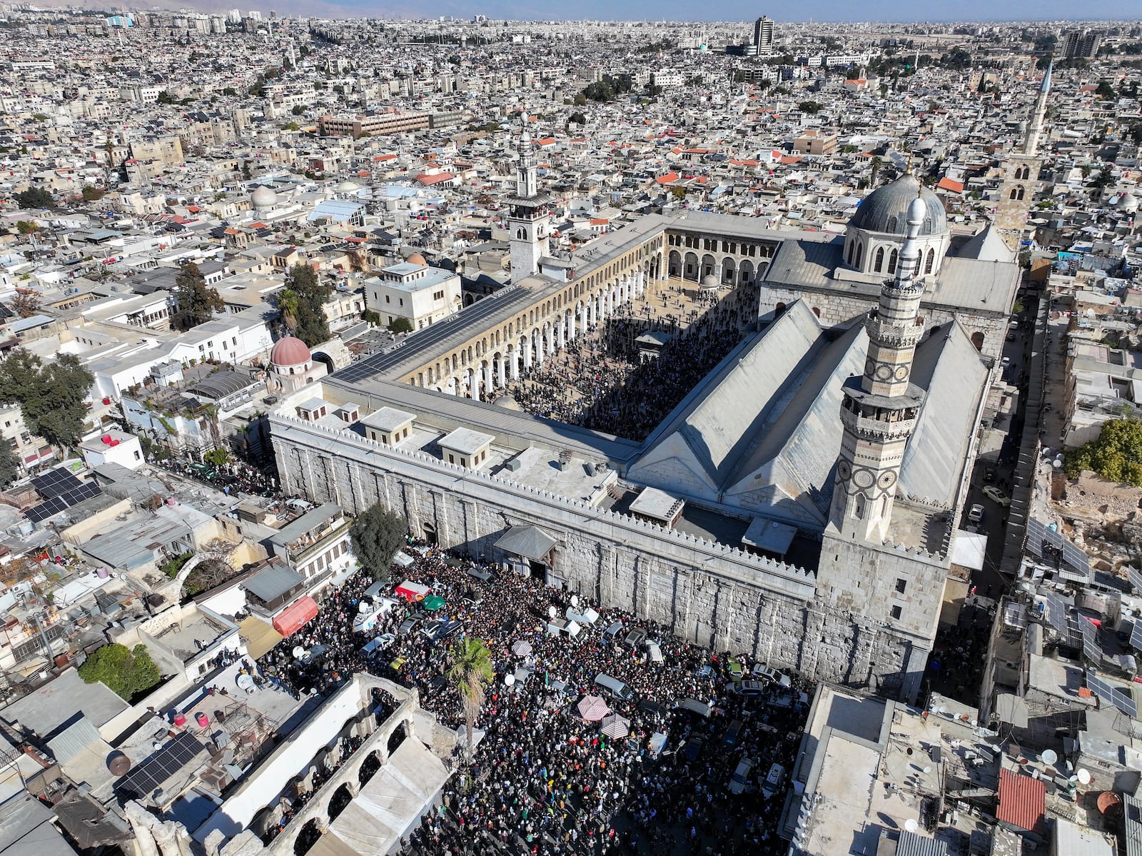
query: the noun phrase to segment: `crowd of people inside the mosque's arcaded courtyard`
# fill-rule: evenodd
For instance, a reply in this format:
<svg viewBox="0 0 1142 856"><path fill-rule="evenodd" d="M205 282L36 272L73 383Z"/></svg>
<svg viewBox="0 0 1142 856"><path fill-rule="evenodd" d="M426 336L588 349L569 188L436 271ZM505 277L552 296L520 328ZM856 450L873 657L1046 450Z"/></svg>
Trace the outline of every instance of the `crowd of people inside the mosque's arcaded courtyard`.
<svg viewBox="0 0 1142 856"><path fill-rule="evenodd" d="M667 306L670 294L648 299L656 297ZM525 369L508 392L530 414L642 440L741 342L757 318L757 297L756 286L741 286L711 298L708 311L691 310L684 318L652 318L649 303L627 302L542 365ZM677 307L681 313L681 298ZM665 344L640 345L648 333L665 334Z"/></svg>

